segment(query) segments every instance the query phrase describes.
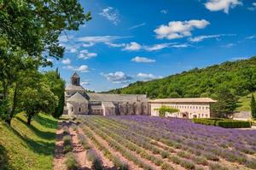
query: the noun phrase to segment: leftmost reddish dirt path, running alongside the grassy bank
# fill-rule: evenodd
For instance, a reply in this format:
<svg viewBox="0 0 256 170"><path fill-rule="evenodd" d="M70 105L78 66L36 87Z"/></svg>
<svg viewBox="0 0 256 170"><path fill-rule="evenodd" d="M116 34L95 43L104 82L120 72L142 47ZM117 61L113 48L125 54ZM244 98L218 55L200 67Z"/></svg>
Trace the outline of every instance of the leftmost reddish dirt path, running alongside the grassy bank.
<svg viewBox="0 0 256 170"><path fill-rule="evenodd" d="M63 123L58 122L58 128L56 130L56 140L55 140L55 152L54 152L54 160L53 160L53 170L66 170L65 166L65 156L63 154Z"/></svg>

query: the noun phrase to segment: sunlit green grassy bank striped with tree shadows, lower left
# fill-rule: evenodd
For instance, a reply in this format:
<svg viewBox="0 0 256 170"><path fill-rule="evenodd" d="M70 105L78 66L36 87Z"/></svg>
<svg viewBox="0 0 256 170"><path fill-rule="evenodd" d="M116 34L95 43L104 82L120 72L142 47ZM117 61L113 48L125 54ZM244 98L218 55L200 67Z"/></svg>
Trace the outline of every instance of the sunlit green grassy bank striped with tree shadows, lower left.
<svg viewBox="0 0 256 170"><path fill-rule="evenodd" d="M57 121L39 114L26 124L26 117L18 114L12 127L0 121L0 169L52 169Z"/></svg>

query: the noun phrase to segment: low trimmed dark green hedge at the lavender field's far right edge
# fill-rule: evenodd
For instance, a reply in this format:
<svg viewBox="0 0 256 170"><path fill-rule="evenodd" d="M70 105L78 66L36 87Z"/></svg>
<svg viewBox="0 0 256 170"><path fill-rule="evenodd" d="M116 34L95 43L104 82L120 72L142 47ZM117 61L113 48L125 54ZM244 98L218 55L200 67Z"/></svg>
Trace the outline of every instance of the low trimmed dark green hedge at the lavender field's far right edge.
<svg viewBox="0 0 256 170"><path fill-rule="evenodd" d="M230 119L221 119L221 118L194 118L193 122L205 124L205 125L212 125L224 128L242 128L242 127L251 127L252 123L249 121L236 121Z"/></svg>

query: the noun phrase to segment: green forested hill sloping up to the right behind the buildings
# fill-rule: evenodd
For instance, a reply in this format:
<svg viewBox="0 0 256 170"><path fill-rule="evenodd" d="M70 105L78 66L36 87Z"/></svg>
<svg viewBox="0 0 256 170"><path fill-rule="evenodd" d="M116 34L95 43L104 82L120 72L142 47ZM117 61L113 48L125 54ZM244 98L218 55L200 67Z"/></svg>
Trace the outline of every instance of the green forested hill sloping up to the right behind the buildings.
<svg viewBox="0 0 256 170"><path fill-rule="evenodd" d="M109 91L114 94L148 94L154 98L213 97L219 88L229 88L237 96L256 90L256 56L224 62L203 69L192 69L180 74L134 82L128 87Z"/></svg>

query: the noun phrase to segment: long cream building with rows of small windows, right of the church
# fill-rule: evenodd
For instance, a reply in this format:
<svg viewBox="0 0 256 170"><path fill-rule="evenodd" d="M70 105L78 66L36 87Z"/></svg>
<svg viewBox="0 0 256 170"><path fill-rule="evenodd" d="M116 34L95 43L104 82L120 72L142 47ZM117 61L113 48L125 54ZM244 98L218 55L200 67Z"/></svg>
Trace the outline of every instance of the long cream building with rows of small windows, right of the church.
<svg viewBox="0 0 256 170"><path fill-rule="evenodd" d="M216 100L210 98L178 98L150 100L151 116L159 116L157 111L162 105L178 109L175 113L166 113L166 116L179 118L210 118L210 106Z"/></svg>

